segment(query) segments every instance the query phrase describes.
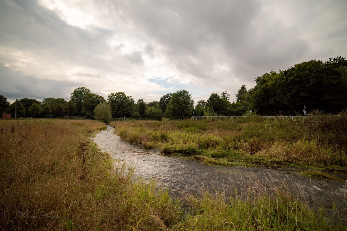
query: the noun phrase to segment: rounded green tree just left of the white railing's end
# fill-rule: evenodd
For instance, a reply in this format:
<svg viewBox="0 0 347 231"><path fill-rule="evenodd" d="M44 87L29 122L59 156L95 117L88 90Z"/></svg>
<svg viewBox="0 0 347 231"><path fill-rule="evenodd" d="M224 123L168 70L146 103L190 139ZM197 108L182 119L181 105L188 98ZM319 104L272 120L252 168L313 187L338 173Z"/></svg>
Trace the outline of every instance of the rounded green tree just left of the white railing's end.
<svg viewBox="0 0 347 231"><path fill-rule="evenodd" d="M171 119L185 119L192 117L194 101L187 90L172 93L167 105L166 114Z"/></svg>

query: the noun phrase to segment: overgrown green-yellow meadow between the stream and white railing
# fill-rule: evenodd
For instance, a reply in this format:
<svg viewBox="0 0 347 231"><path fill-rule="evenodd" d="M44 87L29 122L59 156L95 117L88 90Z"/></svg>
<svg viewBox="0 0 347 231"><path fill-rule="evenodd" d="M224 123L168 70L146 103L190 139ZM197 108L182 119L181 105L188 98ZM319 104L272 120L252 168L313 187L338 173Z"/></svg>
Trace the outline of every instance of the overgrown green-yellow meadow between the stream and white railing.
<svg viewBox="0 0 347 231"><path fill-rule="evenodd" d="M228 120L113 121L133 144L193 155L210 164L304 164L347 171L347 115Z"/></svg>

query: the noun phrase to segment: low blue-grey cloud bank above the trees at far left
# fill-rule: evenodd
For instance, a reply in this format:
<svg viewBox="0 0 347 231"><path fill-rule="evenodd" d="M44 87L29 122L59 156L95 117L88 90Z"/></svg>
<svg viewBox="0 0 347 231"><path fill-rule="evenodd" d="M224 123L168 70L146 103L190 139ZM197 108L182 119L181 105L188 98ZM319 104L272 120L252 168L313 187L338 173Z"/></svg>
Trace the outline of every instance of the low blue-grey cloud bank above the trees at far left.
<svg viewBox="0 0 347 231"><path fill-rule="evenodd" d="M72 81L59 81L49 79L39 79L33 76L24 75L19 71L12 71L10 68L0 64L1 85L0 94L12 98L34 98L42 100L47 97L65 98L83 83Z"/></svg>

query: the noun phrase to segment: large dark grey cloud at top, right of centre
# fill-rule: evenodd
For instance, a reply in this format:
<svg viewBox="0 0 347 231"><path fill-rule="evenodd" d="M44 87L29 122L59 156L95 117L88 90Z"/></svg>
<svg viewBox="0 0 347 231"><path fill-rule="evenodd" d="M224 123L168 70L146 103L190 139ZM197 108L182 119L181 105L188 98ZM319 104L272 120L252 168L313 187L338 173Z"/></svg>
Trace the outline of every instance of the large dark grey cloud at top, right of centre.
<svg viewBox="0 0 347 231"><path fill-rule="evenodd" d="M215 77L214 65L221 61L238 77L253 80L287 67L309 47L295 30L267 21L257 1L118 1L116 7L180 71L205 80Z"/></svg>

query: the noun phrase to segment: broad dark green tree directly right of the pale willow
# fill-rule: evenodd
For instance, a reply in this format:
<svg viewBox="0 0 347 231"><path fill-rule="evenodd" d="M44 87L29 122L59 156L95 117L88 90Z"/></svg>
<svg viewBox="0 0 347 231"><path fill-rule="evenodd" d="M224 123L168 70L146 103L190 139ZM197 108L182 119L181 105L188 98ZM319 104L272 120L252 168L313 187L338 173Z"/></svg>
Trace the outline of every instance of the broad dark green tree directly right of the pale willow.
<svg viewBox="0 0 347 231"><path fill-rule="evenodd" d="M128 117L134 111L134 98L126 96L124 92L111 93L107 100L110 103L113 117Z"/></svg>

